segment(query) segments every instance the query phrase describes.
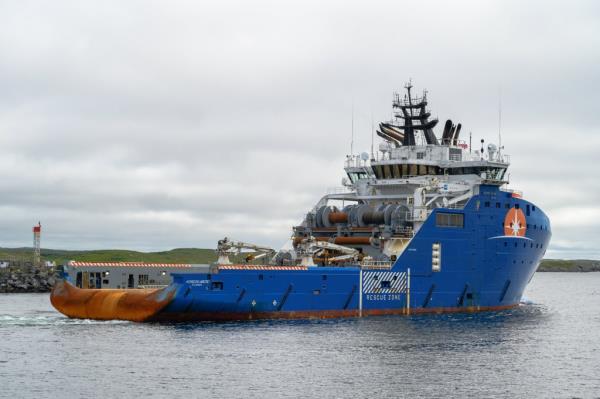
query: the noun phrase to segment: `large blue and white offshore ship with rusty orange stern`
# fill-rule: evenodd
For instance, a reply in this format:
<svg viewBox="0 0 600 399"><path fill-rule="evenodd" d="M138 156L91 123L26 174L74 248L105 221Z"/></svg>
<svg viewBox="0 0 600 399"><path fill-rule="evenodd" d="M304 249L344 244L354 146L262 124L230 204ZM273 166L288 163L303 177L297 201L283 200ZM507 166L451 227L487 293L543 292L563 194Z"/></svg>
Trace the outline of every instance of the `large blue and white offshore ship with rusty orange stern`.
<svg viewBox="0 0 600 399"><path fill-rule="evenodd" d="M138 322L519 306L550 241L548 216L506 187L510 156L500 143L473 148L452 120L436 135L427 92L412 89L394 94L377 151L346 157L342 186L293 227L286 249L225 238L217 262L175 270L162 287L85 288L67 274L52 304L73 318Z"/></svg>

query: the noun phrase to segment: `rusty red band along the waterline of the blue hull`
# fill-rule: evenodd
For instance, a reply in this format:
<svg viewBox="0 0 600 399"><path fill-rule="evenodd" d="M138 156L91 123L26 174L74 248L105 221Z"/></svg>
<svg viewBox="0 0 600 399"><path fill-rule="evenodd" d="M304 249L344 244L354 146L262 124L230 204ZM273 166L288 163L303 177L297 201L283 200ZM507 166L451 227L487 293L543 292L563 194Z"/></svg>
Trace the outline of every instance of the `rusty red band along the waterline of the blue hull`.
<svg viewBox="0 0 600 399"><path fill-rule="evenodd" d="M443 314L443 313L475 313L512 309L519 306L473 306L453 308L416 308L408 311L402 309L363 309L363 316L385 315L414 315L414 314ZM159 313L147 321L155 322L190 322L190 321L244 321L244 320L275 320L275 319L335 319L359 317L358 309L352 310L323 310L323 311L298 311L298 312L250 312L250 313L214 313L214 312L186 312L186 313Z"/></svg>

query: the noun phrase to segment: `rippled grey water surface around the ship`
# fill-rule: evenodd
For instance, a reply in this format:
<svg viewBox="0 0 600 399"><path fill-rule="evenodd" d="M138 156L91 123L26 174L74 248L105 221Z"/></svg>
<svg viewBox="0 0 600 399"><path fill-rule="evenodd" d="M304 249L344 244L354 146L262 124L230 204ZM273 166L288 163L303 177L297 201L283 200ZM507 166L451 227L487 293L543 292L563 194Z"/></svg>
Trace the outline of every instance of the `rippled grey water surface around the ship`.
<svg viewBox="0 0 600 399"><path fill-rule="evenodd" d="M600 397L600 273L538 273L518 309L328 321L69 320L0 295L0 396Z"/></svg>

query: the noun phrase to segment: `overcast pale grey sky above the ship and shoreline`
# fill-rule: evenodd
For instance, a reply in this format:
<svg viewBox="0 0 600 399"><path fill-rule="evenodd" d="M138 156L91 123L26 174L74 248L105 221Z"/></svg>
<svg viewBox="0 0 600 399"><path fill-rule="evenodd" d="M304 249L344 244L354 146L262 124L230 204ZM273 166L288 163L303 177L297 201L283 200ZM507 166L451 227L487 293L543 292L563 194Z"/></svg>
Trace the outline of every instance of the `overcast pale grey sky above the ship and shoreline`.
<svg viewBox="0 0 600 399"><path fill-rule="evenodd" d="M0 247L280 247L412 79L600 259L598 65L594 1L0 0Z"/></svg>

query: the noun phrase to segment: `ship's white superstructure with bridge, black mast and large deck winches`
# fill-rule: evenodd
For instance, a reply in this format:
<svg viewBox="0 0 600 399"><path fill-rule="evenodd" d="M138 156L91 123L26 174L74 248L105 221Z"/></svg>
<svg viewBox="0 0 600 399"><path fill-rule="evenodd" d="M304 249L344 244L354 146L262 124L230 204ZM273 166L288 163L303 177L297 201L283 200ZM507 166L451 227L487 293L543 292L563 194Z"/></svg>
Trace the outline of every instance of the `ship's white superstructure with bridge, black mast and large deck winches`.
<svg viewBox="0 0 600 399"><path fill-rule="evenodd" d="M502 186L509 157L489 144L472 151L460 140L461 124L445 123L433 133L427 93L395 94L395 119L379 124L384 141L377 154L349 155L343 189L325 195L294 227L299 252L311 238L355 248L365 261L393 262L433 209L462 208L481 185ZM328 264L327 258L317 259ZM339 262L336 262L339 263Z"/></svg>

